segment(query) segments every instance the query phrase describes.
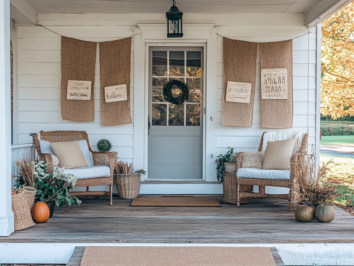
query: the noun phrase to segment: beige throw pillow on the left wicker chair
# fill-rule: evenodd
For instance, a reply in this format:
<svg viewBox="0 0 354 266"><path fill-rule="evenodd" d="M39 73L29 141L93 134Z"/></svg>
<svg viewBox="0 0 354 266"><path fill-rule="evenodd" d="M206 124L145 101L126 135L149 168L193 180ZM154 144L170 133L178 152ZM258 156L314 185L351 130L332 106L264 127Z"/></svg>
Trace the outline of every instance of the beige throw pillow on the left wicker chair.
<svg viewBox="0 0 354 266"><path fill-rule="evenodd" d="M59 166L73 169L87 167L84 155L76 141L51 142L50 147L59 159Z"/></svg>

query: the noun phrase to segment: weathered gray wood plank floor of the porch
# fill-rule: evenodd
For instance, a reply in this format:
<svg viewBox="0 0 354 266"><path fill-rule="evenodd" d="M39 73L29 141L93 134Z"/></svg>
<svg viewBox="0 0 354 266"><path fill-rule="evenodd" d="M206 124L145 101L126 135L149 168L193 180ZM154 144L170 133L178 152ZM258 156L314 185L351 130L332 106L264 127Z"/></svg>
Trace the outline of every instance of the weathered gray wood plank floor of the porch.
<svg viewBox="0 0 354 266"><path fill-rule="evenodd" d="M217 195L222 202L222 196ZM131 200L82 198L46 223L0 242L62 243L353 243L354 216L335 206L331 223L299 223L289 202L253 199L237 207L130 207Z"/></svg>

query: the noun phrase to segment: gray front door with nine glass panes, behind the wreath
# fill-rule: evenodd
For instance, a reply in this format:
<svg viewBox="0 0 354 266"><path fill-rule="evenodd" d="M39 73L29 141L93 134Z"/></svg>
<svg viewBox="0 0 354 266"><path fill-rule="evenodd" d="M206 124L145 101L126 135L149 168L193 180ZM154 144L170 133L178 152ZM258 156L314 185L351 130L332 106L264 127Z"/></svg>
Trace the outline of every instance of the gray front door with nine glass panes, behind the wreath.
<svg viewBox="0 0 354 266"><path fill-rule="evenodd" d="M148 179L202 179L203 48L150 47ZM166 101L171 79L188 85L189 99ZM181 91L172 89L173 96Z"/></svg>

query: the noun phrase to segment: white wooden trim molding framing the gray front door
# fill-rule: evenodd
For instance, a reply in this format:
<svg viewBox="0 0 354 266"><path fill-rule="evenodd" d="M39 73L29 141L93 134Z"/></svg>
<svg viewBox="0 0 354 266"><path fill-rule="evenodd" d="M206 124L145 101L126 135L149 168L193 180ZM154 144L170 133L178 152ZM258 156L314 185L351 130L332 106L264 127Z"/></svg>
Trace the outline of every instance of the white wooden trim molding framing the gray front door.
<svg viewBox="0 0 354 266"><path fill-rule="evenodd" d="M145 46L188 46L206 43L205 181L216 181L214 169L217 141L217 32L215 24L183 24L183 38L167 39L166 24L137 24L134 32L133 160L137 169L148 170L148 77ZM142 177L142 181L144 177ZM173 186L173 185L172 185ZM203 193L203 191L195 191Z"/></svg>

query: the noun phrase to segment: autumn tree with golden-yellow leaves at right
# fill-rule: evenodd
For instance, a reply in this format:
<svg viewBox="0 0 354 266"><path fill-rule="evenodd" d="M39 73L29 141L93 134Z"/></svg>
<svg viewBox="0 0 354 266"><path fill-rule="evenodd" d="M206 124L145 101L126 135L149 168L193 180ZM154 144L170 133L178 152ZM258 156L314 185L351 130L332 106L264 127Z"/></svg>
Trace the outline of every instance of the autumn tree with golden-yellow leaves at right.
<svg viewBox="0 0 354 266"><path fill-rule="evenodd" d="M354 115L354 2L322 22L321 114Z"/></svg>

